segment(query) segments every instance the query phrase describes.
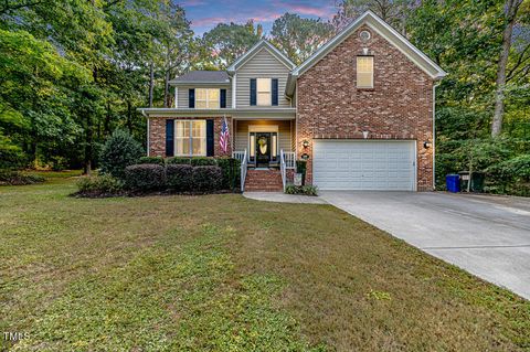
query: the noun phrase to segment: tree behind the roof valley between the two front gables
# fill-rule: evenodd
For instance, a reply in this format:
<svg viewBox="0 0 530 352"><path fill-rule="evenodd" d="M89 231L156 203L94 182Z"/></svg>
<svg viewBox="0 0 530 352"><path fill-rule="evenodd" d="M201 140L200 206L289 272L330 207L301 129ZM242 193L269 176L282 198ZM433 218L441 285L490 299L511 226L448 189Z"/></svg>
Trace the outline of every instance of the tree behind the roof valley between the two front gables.
<svg viewBox="0 0 530 352"><path fill-rule="evenodd" d="M271 41L294 63L300 64L333 34L335 28L328 22L285 13L274 21Z"/></svg>

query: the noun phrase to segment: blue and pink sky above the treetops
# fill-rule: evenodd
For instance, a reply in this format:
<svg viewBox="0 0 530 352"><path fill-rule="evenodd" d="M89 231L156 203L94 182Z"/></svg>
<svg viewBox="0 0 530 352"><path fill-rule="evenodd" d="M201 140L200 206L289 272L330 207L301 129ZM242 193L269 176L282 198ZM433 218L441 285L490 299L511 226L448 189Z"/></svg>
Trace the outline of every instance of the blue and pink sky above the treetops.
<svg viewBox="0 0 530 352"><path fill-rule="evenodd" d="M178 3L184 8L197 35L202 35L221 22L244 23L251 19L269 32L274 20L285 12L328 20L337 11L335 0L182 0Z"/></svg>

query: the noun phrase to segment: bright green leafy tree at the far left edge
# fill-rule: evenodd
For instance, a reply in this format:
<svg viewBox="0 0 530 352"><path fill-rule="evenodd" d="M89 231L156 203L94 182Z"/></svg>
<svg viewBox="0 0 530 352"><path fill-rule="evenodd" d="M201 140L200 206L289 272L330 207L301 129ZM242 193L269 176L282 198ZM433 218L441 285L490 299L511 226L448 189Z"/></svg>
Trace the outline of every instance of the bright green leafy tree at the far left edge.
<svg viewBox="0 0 530 352"><path fill-rule="evenodd" d="M0 132L2 149L23 148L34 162L38 148L74 141L71 96L91 81L86 70L25 31L0 30L0 126L10 132Z"/></svg>

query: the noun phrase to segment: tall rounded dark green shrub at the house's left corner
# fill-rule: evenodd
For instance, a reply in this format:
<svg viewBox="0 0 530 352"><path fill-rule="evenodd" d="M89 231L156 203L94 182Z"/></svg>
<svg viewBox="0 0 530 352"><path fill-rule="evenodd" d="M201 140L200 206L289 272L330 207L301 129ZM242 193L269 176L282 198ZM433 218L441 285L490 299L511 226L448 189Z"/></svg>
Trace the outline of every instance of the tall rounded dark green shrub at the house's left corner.
<svg viewBox="0 0 530 352"><path fill-rule="evenodd" d="M125 178L125 168L138 162L142 148L128 132L117 129L110 136L100 153L100 167L104 173L115 178Z"/></svg>

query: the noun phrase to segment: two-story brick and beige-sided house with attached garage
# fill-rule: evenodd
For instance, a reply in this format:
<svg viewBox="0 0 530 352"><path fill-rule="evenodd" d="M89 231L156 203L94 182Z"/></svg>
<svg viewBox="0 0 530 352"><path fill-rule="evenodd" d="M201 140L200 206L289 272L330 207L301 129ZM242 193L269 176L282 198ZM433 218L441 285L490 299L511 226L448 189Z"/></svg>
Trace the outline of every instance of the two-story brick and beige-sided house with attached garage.
<svg viewBox="0 0 530 352"><path fill-rule="evenodd" d="M296 159L322 190L432 190L434 89L444 75L368 11L299 66L262 40L226 71L177 77L173 107L140 109L148 153L233 154L253 190L261 181L275 189Z"/></svg>

